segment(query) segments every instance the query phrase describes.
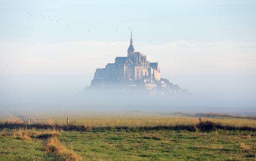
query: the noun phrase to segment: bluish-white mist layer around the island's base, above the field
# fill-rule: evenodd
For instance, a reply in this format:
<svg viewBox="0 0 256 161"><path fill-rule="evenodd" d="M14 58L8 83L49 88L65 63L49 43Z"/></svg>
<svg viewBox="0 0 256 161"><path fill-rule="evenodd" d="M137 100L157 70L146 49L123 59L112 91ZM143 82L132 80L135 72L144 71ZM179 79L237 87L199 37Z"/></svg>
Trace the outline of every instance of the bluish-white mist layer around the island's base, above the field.
<svg viewBox="0 0 256 161"><path fill-rule="evenodd" d="M0 110L229 112L256 115L255 75L164 76L192 96L89 91L93 76L1 75Z"/></svg>

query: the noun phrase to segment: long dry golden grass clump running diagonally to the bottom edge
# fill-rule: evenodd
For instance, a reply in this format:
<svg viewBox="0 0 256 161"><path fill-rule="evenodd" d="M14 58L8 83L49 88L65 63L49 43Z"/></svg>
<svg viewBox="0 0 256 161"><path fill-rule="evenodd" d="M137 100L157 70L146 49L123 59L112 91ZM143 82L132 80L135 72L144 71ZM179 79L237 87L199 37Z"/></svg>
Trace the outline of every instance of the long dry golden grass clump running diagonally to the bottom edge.
<svg viewBox="0 0 256 161"><path fill-rule="evenodd" d="M60 161L81 161L82 158L73 150L67 149L57 137L49 137L44 149Z"/></svg>

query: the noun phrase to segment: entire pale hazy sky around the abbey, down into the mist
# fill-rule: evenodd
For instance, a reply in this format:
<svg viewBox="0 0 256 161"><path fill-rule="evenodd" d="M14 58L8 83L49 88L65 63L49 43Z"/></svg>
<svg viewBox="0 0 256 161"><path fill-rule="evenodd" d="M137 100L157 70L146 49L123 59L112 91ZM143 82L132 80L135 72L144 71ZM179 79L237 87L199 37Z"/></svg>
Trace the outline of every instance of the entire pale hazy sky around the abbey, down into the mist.
<svg viewBox="0 0 256 161"><path fill-rule="evenodd" d="M161 76L198 97L240 91L241 105L256 106L255 17L255 0L0 0L0 95L83 90L127 55L132 29Z"/></svg>

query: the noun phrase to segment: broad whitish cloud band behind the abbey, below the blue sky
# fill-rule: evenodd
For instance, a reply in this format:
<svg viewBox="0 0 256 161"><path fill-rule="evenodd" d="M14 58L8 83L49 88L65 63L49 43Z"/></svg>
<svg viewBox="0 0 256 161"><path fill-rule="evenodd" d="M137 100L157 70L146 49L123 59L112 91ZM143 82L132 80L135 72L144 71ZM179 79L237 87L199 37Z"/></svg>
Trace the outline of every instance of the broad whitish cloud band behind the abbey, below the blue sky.
<svg viewBox="0 0 256 161"><path fill-rule="evenodd" d="M129 42L0 42L0 74L93 75L96 68L126 56ZM254 42L134 43L162 74L256 74ZM8 65L6 65L8 64Z"/></svg>

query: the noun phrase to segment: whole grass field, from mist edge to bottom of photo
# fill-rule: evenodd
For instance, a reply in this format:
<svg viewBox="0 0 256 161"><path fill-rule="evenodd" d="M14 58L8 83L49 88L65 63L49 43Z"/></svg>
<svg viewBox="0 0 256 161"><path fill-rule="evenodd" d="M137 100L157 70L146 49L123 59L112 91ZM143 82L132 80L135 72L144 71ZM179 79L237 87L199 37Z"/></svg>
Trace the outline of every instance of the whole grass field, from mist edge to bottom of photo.
<svg viewBox="0 0 256 161"><path fill-rule="evenodd" d="M2 118L0 160L256 160L253 117L207 116L201 125L187 114L69 117L68 127L63 114L35 114L30 126L26 120Z"/></svg>

